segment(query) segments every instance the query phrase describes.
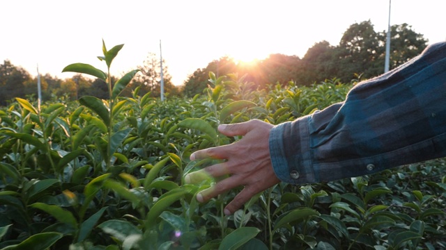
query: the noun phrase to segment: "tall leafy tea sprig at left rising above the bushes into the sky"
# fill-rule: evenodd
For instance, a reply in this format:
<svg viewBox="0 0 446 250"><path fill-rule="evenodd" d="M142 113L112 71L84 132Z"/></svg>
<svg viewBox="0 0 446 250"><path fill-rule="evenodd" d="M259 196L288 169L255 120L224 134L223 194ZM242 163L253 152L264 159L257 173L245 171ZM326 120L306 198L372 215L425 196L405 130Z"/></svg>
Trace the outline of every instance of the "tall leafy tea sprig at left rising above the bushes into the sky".
<svg viewBox="0 0 446 250"><path fill-rule="evenodd" d="M105 47L105 42L104 40L102 40L102 53L104 54L104 56L98 56L98 59L101 61L105 61L105 64L107 65L107 73L85 63L73 63L62 70L62 72L77 72L81 74L89 74L91 76L102 79L107 84L107 88L109 90L108 102L102 101L97 97L90 96L81 97L79 99L79 103L96 113L104 123L105 127L107 127L107 142L104 142L103 140L98 140L98 142L96 142L98 144L98 147L100 147L101 149L101 153L105 160L107 169L109 169L110 167L111 159L113 154L116 152L116 149L119 145L122 144L123 140L130 133L130 128L116 131L115 133L113 131L113 117L114 115L116 115L116 113L118 113L117 110L114 110L115 105L116 109L122 107L122 105L118 105L119 103L116 103L117 97L125 88L125 86L127 86L128 83L132 81L133 76L137 74L137 72L139 72L139 69L132 70L131 72L125 74L121 79L116 81L115 84L112 83L110 67L112 65L112 61L118 55L118 52L121 51L123 46L124 44L119 44L112 49L107 50L107 47Z"/></svg>

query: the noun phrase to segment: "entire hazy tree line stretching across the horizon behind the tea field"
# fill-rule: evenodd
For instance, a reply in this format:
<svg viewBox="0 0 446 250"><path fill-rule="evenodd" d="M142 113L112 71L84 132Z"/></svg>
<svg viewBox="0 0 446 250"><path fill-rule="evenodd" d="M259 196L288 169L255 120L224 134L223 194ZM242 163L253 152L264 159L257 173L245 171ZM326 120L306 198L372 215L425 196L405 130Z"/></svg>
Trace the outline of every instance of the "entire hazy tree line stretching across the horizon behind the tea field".
<svg viewBox="0 0 446 250"><path fill-rule="evenodd" d="M408 24L394 25L391 31L390 69L417 56L428 42ZM249 64L239 63L225 56L197 69L182 86L172 84L168 69L164 67L164 90L167 95L192 97L206 88L209 72L214 72L217 76L244 76L244 81L254 83L251 84L252 88L259 89L289 81L295 81L298 85L312 85L330 78L339 78L344 82L353 78L371 78L383 73L386 35L385 31L374 31L370 21L355 23L347 28L336 46L321 41L309 48L303 58L277 53ZM153 97L159 97L160 61L155 53L148 53L147 59L137 68L140 72L123 94L130 96L132 90L140 86L140 94L151 92ZM107 98L107 85L102 80L86 78L81 74L66 79L44 74L40 81L44 101L62 96L69 99L84 95ZM112 78L112 82L114 81L116 77ZM32 98L36 95L36 88L36 76L31 76L9 60L0 64L0 105L7 105L14 97Z"/></svg>

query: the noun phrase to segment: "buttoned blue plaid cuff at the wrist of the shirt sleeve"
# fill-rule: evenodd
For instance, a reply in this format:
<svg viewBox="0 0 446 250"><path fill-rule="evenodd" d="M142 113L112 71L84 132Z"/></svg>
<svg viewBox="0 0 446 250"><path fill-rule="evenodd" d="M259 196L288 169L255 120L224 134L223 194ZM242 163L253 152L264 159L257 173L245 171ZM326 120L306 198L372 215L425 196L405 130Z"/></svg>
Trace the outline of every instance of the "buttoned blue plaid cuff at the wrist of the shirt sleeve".
<svg viewBox="0 0 446 250"><path fill-rule="evenodd" d="M309 150L309 116L284 122L270 131L272 168L279 180L292 184L318 181Z"/></svg>

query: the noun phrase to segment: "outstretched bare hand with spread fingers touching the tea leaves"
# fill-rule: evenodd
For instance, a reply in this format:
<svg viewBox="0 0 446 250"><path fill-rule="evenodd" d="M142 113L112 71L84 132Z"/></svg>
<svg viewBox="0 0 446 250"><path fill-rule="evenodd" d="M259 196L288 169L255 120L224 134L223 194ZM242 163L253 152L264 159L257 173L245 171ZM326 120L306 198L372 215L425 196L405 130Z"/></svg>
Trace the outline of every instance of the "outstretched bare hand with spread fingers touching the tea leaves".
<svg viewBox="0 0 446 250"><path fill-rule="evenodd" d="M223 135L243 135L243 138L233 144L192 153L190 160L204 158L226 160L223 163L206 167L204 171L213 177L230 175L215 183L213 187L197 194L197 200L208 201L218 194L243 185L245 188L224 208L224 213L231 215L255 194L279 183L279 179L272 169L268 145L271 128L271 124L258 119L240 124L220 125L218 130ZM185 180L190 182L191 178L192 176L186 176Z"/></svg>

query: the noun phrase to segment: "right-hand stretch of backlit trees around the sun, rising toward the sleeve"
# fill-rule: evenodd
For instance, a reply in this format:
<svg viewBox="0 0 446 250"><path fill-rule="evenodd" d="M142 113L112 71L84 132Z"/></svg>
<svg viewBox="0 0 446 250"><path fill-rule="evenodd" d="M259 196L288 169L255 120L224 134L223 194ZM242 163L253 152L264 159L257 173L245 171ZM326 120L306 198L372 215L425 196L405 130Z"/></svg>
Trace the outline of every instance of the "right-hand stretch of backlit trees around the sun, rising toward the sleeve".
<svg viewBox="0 0 446 250"><path fill-rule="evenodd" d="M236 72L260 89L267 88L271 83L284 85L289 81L298 85L312 85L332 78L338 78L341 82L372 78L384 72L386 36L386 31L376 32L370 21L364 21L348 27L336 46L327 41L317 42L303 58L272 54L264 60L244 64L223 57L190 75L185 81L183 93L193 96L203 90L208 84L208 72L220 76ZM392 26L390 69L420 54L427 42L408 24Z"/></svg>

